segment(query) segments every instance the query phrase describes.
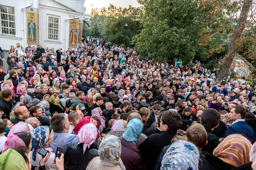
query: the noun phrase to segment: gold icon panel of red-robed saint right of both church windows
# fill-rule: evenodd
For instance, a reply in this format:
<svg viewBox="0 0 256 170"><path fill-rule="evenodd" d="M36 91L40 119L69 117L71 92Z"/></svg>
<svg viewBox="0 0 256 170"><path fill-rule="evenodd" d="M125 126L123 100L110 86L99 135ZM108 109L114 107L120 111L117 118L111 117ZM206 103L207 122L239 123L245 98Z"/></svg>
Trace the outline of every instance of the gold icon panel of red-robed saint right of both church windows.
<svg viewBox="0 0 256 170"><path fill-rule="evenodd" d="M79 20L70 20L70 29L69 29L69 47L77 48L78 43L78 31L79 31Z"/></svg>

